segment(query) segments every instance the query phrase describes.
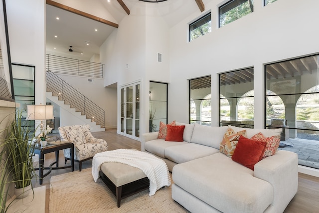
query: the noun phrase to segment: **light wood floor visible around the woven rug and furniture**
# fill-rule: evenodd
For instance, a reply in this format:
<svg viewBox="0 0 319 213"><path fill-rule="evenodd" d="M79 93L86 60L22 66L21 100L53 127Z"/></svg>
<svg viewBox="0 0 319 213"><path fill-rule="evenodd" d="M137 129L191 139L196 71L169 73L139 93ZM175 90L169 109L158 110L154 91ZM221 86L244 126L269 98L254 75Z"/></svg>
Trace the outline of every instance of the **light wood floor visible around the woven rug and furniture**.
<svg viewBox="0 0 319 213"><path fill-rule="evenodd" d="M107 141L108 149L137 149L141 150L141 143L139 141L116 134L115 129L108 129L105 132L94 132L92 135L96 138L102 138ZM45 155L44 166L47 167L55 159L54 153ZM63 152L59 153L59 164L64 166ZM66 165L70 165L67 162ZM82 164L82 169L92 167L92 160L86 161ZM75 171L81 174L78 170L78 163L75 162ZM46 208L45 212L49 213L49 195L50 195L50 179L52 176L71 172L71 169L52 170L52 172L43 179L43 184L39 185L38 181L33 183L34 187L46 186ZM285 213L318 213L319 212L319 178L299 174L299 185L297 195L290 202L285 210Z"/></svg>

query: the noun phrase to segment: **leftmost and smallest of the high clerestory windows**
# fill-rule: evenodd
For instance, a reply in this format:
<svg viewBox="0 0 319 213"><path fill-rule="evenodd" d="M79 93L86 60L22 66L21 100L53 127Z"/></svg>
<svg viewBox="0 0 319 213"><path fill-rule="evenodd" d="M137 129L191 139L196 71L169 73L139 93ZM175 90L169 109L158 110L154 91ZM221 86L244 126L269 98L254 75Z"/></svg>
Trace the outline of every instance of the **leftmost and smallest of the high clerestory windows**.
<svg viewBox="0 0 319 213"><path fill-rule="evenodd" d="M211 13L198 18L189 24L189 41L211 32Z"/></svg>

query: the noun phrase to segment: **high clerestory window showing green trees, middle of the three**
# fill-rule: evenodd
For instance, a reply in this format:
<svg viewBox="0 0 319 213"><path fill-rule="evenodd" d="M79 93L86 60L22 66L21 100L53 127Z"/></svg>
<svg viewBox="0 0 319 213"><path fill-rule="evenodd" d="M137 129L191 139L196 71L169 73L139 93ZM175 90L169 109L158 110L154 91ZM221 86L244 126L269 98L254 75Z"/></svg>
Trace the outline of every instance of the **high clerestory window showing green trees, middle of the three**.
<svg viewBox="0 0 319 213"><path fill-rule="evenodd" d="M254 11L254 0L230 0L219 7L219 27Z"/></svg>

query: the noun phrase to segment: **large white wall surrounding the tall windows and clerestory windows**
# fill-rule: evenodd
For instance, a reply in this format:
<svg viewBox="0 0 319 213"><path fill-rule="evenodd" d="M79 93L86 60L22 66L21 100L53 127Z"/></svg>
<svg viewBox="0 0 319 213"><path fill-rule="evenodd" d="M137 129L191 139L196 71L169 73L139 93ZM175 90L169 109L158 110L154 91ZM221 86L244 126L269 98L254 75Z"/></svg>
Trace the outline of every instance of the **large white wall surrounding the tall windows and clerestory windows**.
<svg viewBox="0 0 319 213"><path fill-rule="evenodd" d="M212 125L218 125L218 73L254 66L255 127L264 127L264 64L319 52L316 45L319 1L277 0L263 6L254 0L254 12L218 28L217 8L211 0L212 32L191 42L186 33L190 14L169 30L170 83L168 120L188 122L188 79L212 76Z"/></svg>

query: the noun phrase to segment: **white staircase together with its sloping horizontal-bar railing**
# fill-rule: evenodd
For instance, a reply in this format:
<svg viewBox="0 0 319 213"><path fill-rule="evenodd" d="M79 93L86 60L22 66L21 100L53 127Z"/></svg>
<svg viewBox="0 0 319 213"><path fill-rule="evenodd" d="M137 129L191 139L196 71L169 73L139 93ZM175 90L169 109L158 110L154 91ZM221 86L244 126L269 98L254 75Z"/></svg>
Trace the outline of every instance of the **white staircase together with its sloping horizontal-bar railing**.
<svg viewBox="0 0 319 213"><path fill-rule="evenodd" d="M60 113L71 116L77 124L89 124L92 132L105 131L104 110L48 69L46 98L60 106Z"/></svg>

